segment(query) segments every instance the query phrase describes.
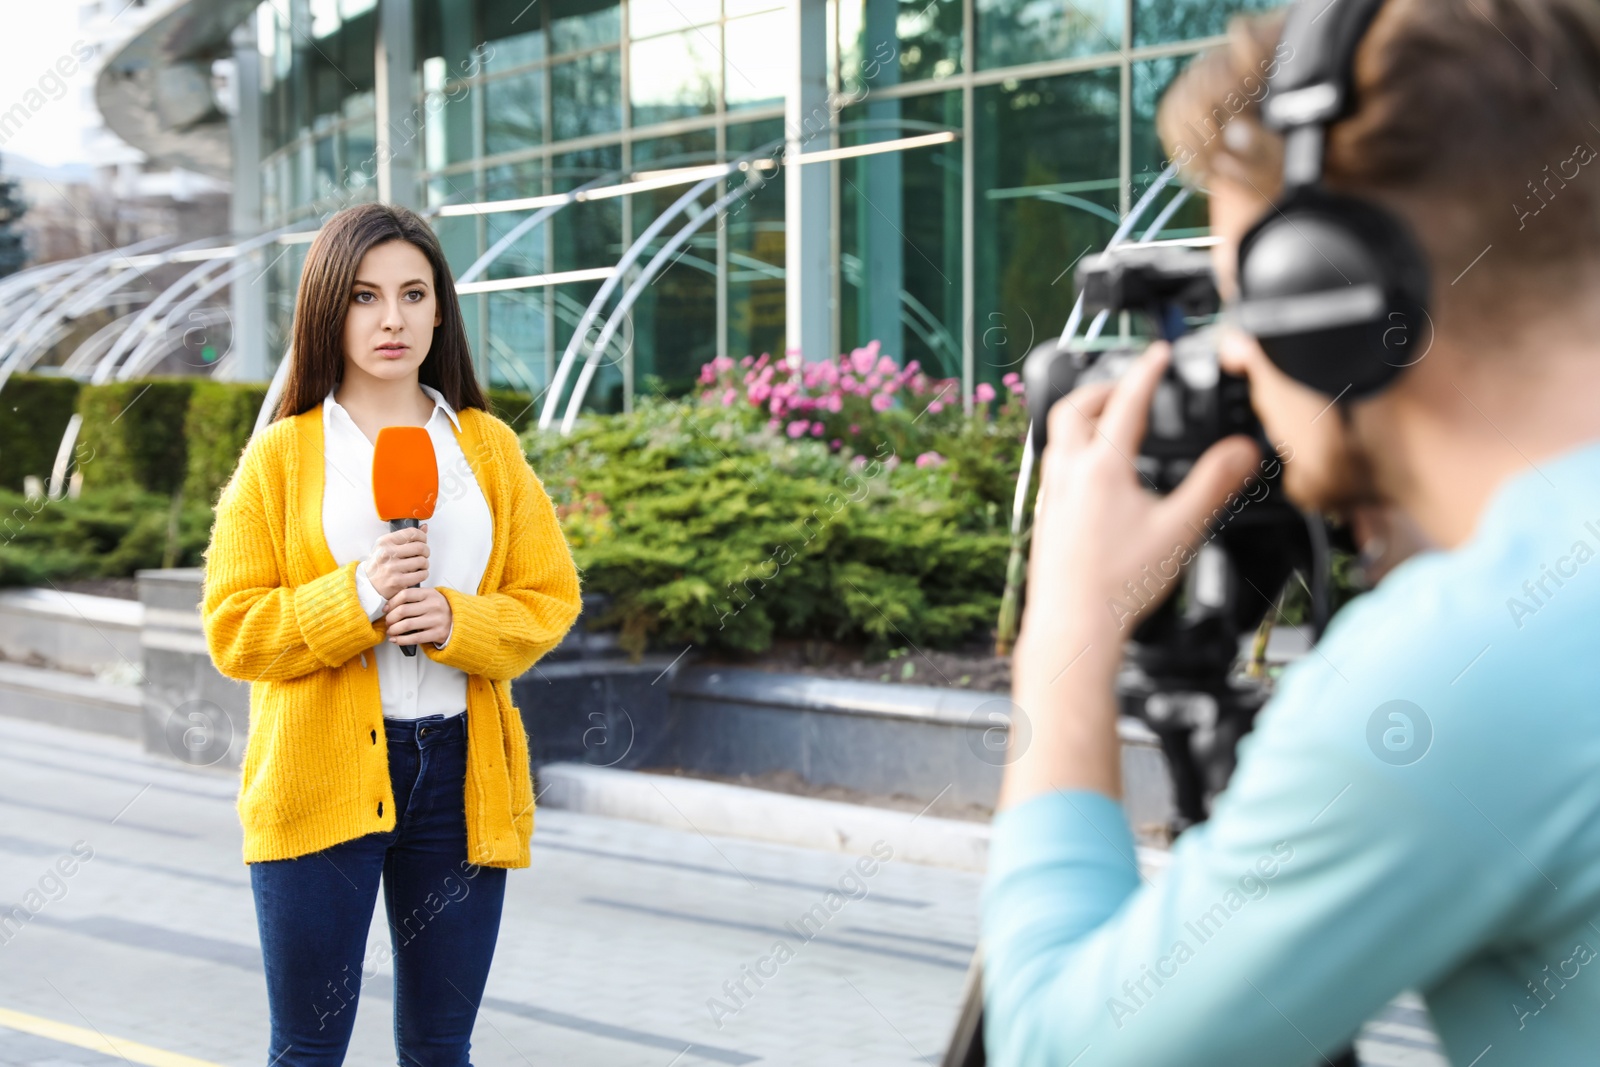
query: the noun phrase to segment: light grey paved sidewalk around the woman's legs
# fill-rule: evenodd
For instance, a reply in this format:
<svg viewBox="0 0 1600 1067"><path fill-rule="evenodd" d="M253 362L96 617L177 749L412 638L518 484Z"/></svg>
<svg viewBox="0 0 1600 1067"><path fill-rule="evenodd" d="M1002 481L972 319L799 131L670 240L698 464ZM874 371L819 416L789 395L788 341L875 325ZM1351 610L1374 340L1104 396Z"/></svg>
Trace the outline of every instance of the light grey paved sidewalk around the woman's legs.
<svg viewBox="0 0 1600 1067"><path fill-rule="evenodd" d="M42 1037L50 1022L208 1064L266 1062L235 782L130 741L0 718L0 904L30 889L46 901L21 928L0 926L0 1065L125 1062ZM805 941L784 925L858 857L554 809L533 840L533 867L507 880L472 1041L480 1067L938 1062L978 875L890 861ZM93 859L56 881L75 841ZM379 897L352 1067L395 1062L381 915ZM746 979L752 997L730 997L723 984L779 937L795 957L760 989Z"/></svg>

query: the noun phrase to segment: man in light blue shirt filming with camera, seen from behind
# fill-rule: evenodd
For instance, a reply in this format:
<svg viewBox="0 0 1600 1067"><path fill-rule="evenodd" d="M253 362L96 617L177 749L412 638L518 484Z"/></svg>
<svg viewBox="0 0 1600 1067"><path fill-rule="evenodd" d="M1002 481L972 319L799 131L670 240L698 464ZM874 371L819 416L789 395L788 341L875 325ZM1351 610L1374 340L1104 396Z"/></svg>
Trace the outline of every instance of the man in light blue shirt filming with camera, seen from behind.
<svg viewBox="0 0 1600 1067"><path fill-rule="evenodd" d="M1224 298L1282 192L1251 85L1306 59L1275 53L1283 24L1234 19L1160 109L1210 194ZM1194 547L1264 458L1230 437L1144 488L1165 344L1054 405L1013 661L1032 737L982 904L998 1067L1320 1064L1405 989L1458 1067L1600 1056L1600 3L1386 0L1352 70L1322 174L1410 227L1432 336L1360 397L1237 330L1221 362L1290 456L1283 493L1397 517L1422 550L1285 670L1210 821L1141 885L1125 582Z"/></svg>

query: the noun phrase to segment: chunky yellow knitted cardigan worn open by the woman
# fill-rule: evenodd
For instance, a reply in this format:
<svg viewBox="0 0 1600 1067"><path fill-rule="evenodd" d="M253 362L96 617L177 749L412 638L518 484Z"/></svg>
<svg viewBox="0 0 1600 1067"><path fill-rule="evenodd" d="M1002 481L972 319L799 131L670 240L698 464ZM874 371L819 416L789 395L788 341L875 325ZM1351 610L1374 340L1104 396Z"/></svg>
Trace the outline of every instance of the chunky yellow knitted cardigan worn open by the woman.
<svg viewBox="0 0 1600 1067"><path fill-rule="evenodd" d="M438 587L454 614L429 659L467 673L467 859L526 867L528 737L510 681L578 617L579 581L550 498L517 434L478 408L456 438L494 520L477 592ZM387 633L322 531L322 405L256 434L222 488L205 550L202 621L216 669L250 681L238 787L245 862L306 856L392 830L376 648ZM446 502L448 504L448 502Z"/></svg>

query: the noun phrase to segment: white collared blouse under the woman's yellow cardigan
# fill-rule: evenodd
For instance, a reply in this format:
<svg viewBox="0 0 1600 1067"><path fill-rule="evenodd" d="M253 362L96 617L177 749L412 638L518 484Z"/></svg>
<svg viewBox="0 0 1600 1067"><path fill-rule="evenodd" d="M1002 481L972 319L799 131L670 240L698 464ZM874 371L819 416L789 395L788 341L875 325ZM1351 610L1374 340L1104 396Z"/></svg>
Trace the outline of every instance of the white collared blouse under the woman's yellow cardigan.
<svg viewBox="0 0 1600 1067"><path fill-rule="evenodd" d="M421 382L418 382L421 384ZM338 386L334 386L334 390ZM366 576L366 560L378 537L389 533L389 523L378 517L373 498L373 451L376 443L355 426L350 413L333 398L322 405L323 458L326 459L322 496L322 530L334 563L355 568L355 590L374 622L384 616L389 601ZM494 523L483 490L467 464L456 435L461 419L451 411L443 394L430 386L422 392L434 398L427 434L438 458L438 499L427 520L427 577L424 589L446 585L475 593L490 561ZM451 429L454 427L454 429ZM451 627L454 629L454 627ZM450 643L435 645L443 648ZM422 715L459 715L467 709L467 675L456 667L429 659L421 648L406 656L400 645L387 638L378 643L378 691L382 694L384 718L419 718Z"/></svg>

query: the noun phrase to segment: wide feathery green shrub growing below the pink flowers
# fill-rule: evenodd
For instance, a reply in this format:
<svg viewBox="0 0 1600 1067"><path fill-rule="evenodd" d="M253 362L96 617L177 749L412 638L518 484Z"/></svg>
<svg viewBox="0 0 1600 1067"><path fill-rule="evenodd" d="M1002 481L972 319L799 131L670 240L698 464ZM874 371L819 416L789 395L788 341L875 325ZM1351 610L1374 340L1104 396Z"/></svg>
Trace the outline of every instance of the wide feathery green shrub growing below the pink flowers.
<svg viewBox="0 0 1600 1067"><path fill-rule="evenodd" d="M611 598L590 625L618 627L635 654L758 653L779 637L880 654L994 622L1010 512L976 466L966 485L960 462L917 466L888 438L832 453L654 397L523 440L584 589Z"/></svg>

